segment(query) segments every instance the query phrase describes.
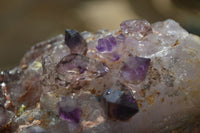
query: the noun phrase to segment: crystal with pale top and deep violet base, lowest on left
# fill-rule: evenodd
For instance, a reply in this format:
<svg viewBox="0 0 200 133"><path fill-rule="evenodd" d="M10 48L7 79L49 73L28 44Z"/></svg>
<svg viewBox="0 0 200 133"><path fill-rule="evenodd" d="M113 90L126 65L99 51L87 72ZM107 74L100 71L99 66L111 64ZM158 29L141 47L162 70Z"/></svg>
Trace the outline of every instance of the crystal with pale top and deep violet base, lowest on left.
<svg viewBox="0 0 200 133"><path fill-rule="evenodd" d="M69 122L79 123L82 115L75 100L66 97L58 103L58 112L61 118Z"/></svg>

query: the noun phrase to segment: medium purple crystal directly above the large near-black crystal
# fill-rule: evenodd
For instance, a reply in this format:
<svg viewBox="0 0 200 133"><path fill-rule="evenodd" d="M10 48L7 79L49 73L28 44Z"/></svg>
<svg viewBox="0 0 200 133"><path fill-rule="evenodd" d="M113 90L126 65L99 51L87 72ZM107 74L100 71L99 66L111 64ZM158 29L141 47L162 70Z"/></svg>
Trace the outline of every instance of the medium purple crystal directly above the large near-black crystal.
<svg viewBox="0 0 200 133"><path fill-rule="evenodd" d="M130 83L142 82L146 77L150 61L149 58L131 56L121 68L122 77Z"/></svg>

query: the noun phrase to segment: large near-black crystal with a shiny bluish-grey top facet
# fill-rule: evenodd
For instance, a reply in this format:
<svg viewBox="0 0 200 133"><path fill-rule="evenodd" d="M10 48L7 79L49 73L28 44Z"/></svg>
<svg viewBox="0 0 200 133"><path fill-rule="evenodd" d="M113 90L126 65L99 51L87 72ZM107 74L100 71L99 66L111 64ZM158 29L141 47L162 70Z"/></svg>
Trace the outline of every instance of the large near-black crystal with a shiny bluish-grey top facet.
<svg viewBox="0 0 200 133"><path fill-rule="evenodd" d="M104 102L108 117L113 120L128 120L138 111L138 105L131 93L108 89L105 91Z"/></svg>

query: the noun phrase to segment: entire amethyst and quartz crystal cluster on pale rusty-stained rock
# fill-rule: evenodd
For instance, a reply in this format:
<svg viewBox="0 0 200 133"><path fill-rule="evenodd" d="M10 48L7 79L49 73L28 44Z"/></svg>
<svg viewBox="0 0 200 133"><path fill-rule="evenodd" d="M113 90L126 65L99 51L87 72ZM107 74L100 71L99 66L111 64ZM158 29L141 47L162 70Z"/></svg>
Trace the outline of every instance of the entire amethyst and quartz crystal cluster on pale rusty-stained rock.
<svg viewBox="0 0 200 133"><path fill-rule="evenodd" d="M0 132L198 132L199 53L170 19L67 29L1 71Z"/></svg>

